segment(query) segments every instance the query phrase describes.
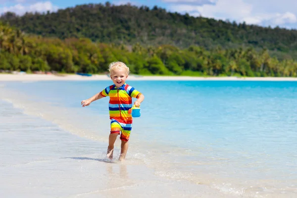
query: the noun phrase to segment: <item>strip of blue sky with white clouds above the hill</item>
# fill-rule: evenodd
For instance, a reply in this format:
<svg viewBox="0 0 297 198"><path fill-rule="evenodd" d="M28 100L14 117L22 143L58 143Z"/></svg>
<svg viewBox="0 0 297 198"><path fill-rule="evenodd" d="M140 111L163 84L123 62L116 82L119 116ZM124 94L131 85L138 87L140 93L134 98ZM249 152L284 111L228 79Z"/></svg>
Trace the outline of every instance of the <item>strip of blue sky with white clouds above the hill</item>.
<svg viewBox="0 0 297 198"><path fill-rule="evenodd" d="M0 14L12 11L54 12L58 9L86 3L105 3L106 0L0 0ZM297 29L297 0L109 0L111 4L146 5L165 8L170 12L189 13L260 26Z"/></svg>

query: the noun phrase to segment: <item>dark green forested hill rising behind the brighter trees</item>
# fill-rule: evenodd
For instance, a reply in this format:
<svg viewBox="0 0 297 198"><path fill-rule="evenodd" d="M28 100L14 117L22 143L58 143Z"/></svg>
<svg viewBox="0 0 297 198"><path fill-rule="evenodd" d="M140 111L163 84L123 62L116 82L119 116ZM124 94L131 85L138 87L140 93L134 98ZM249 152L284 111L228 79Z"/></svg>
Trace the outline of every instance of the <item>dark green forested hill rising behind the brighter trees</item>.
<svg viewBox="0 0 297 198"><path fill-rule="evenodd" d="M54 13L8 12L0 20L26 33L66 39L90 38L100 43L143 46L169 44L179 48L197 45L205 49L267 48L279 59L297 58L297 31L264 28L188 14L170 13L154 6L84 4Z"/></svg>

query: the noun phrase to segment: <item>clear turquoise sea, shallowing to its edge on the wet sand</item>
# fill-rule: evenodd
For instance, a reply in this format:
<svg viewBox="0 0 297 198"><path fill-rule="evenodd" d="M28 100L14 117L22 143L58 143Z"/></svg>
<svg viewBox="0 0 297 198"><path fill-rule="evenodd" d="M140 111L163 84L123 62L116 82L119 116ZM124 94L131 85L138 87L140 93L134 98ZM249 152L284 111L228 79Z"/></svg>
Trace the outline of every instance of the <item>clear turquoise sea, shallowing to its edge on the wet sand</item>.
<svg viewBox="0 0 297 198"><path fill-rule="evenodd" d="M141 159L160 177L234 195L297 196L297 82L127 83L145 95L127 160ZM108 98L84 108L80 102L110 84L10 82L5 89L26 96L18 102L31 102L35 115L106 143Z"/></svg>

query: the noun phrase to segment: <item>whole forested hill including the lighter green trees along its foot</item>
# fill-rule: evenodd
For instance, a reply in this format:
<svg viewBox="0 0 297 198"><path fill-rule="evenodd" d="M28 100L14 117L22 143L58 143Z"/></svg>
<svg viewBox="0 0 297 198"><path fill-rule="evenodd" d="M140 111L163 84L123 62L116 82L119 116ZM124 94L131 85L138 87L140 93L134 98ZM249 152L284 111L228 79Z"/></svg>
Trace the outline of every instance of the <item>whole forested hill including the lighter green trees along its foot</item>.
<svg viewBox="0 0 297 198"><path fill-rule="evenodd" d="M297 76L295 30L108 3L1 20L0 69L98 73L118 60L147 75Z"/></svg>

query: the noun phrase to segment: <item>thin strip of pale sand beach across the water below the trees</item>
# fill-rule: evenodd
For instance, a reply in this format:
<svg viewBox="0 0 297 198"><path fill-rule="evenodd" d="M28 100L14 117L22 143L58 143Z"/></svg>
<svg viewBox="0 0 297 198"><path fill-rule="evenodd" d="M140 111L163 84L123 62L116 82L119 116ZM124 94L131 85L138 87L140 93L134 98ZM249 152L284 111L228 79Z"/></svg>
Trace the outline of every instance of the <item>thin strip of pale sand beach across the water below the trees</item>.
<svg viewBox="0 0 297 198"><path fill-rule="evenodd" d="M110 80L107 75L80 76L65 74L0 74L0 81L98 81ZM141 81L297 81L294 77L191 77L191 76L141 76L130 75L128 80Z"/></svg>

